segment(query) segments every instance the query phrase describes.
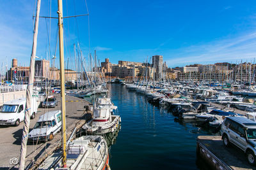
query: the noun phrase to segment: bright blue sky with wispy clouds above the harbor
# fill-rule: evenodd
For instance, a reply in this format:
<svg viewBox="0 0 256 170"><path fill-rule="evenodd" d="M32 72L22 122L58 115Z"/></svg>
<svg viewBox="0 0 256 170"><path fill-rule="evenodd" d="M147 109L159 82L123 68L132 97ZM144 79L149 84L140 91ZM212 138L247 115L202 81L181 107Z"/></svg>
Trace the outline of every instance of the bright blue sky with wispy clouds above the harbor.
<svg viewBox="0 0 256 170"><path fill-rule="evenodd" d="M168 66L174 67L253 61L256 57L256 1L86 3L90 52L96 49L101 61L108 57L113 63L143 62L147 56L163 55ZM13 58L20 66L28 66L35 1L1 1L0 8L0 66L8 62L10 67ZM87 13L84 0L63 0L63 10L65 16ZM41 16L56 17L56 11L56 1L42 1ZM79 41L84 55L89 53L88 17L68 18L64 24L65 60L74 67L74 43ZM47 59L54 54L57 20L41 18L39 27L36 55Z"/></svg>

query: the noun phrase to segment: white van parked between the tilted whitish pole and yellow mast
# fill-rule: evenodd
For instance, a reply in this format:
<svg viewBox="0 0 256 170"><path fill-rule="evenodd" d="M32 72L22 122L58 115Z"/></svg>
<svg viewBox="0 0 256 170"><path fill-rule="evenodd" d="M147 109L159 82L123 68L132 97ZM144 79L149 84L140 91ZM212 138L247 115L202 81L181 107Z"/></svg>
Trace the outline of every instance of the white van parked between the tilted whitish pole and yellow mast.
<svg viewBox="0 0 256 170"><path fill-rule="evenodd" d="M49 111L39 117L34 129L29 132L29 141L51 141L61 130L61 111Z"/></svg>

